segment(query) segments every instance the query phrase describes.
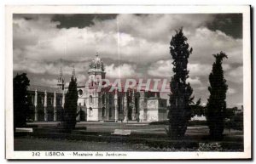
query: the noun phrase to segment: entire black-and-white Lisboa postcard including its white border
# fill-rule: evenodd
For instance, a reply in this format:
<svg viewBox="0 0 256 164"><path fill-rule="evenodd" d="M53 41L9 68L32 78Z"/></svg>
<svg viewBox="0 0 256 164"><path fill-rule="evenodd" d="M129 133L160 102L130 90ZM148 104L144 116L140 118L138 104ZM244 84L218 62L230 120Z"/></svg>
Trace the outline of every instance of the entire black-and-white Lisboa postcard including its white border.
<svg viewBox="0 0 256 164"><path fill-rule="evenodd" d="M6 158L251 158L250 6L6 18Z"/></svg>

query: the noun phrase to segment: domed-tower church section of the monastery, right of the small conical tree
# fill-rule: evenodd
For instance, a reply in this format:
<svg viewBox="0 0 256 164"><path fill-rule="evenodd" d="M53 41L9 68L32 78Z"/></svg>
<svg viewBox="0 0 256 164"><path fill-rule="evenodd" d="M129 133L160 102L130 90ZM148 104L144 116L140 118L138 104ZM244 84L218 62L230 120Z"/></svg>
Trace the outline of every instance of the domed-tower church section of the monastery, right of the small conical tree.
<svg viewBox="0 0 256 164"><path fill-rule="evenodd" d="M90 81L79 89L79 109L84 111L84 121L118 122L137 120L154 122L166 120L166 99L160 98L158 92L137 92L122 88L113 92L98 92L99 82L105 78L106 72L102 59L96 55L88 71ZM108 86L105 90L109 91ZM81 120L81 119L80 119Z"/></svg>

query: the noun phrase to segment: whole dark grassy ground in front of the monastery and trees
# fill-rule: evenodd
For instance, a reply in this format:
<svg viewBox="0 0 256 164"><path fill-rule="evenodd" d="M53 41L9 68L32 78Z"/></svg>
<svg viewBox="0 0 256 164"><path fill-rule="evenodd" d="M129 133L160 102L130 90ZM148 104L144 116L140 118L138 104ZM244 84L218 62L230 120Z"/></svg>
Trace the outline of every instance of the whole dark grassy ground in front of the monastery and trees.
<svg viewBox="0 0 256 164"><path fill-rule="evenodd" d="M79 122L73 133L63 133L59 122L31 122L33 133L15 137L15 150L101 150L101 151L196 151L199 143L216 143L207 139L207 126L188 127L181 140L170 140L165 125L148 125L147 122ZM111 135L115 129L131 130L131 135ZM241 131L224 132L220 143L223 150L242 150ZM208 148L207 148L208 149Z"/></svg>

